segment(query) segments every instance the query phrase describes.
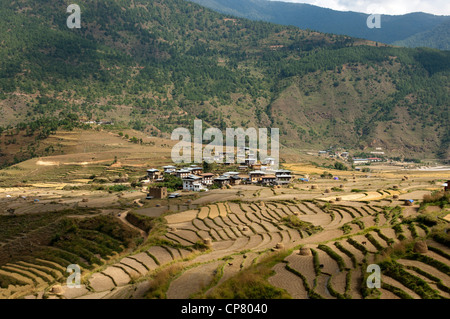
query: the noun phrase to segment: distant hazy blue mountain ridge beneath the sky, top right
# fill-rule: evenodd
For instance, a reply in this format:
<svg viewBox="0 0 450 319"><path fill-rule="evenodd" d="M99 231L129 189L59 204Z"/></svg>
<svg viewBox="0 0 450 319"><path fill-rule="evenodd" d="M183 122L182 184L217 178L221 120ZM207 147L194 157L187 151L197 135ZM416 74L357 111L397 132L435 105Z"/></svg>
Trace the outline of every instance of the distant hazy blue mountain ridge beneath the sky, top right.
<svg viewBox="0 0 450 319"><path fill-rule="evenodd" d="M450 21L448 16L435 16L422 12L405 15L382 16L381 29L366 27L368 15L358 12L343 12L305 3L289 3L269 0L190 0L215 11L258 21L268 21L283 25L294 25L302 29L343 34L387 44L397 43L407 47L448 47L448 32L443 32L428 41L415 38L430 32L442 23ZM444 25L441 25L443 28ZM424 39L424 38L423 38ZM403 42L406 41L406 42Z"/></svg>

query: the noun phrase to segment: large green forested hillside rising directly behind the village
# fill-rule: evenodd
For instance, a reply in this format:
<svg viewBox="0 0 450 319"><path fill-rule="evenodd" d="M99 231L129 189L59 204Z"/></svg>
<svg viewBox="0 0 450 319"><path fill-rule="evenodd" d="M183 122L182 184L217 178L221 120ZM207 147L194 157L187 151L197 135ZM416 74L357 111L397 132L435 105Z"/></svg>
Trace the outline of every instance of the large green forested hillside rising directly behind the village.
<svg viewBox="0 0 450 319"><path fill-rule="evenodd" d="M82 28L70 30L65 1L0 1L2 153L20 149L6 143L31 127L45 138L55 119L170 137L200 118L279 127L290 149L450 157L449 52L233 19L182 0L78 4Z"/></svg>

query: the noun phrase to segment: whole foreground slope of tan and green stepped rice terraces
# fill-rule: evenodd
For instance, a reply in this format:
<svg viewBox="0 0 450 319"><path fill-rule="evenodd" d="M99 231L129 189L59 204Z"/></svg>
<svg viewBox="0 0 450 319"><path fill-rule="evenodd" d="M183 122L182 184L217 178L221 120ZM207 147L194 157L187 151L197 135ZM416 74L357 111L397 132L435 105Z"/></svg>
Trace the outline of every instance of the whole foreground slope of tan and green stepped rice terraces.
<svg viewBox="0 0 450 319"><path fill-rule="evenodd" d="M244 297L450 298L448 223L400 203L216 202L164 216L164 231L143 242L108 214L108 227L82 218L58 226L45 253L1 264L0 297L226 298L233 280L265 273L258 280L270 295ZM72 263L82 266L81 288L65 285ZM366 287L369 264L382 269L379 289Z"/></svg>

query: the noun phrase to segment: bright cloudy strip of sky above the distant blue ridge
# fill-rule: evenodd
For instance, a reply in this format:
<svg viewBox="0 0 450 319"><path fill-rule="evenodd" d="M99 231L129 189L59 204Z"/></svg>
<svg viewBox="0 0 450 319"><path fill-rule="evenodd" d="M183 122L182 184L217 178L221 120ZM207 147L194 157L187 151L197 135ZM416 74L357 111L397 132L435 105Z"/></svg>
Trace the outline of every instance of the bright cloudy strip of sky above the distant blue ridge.
<svg viewBox="0 0 450 319"><path fill-rule="evenodd" d="M308 3L339 11L400 15L410 12L426 12L450 15L450 0L272 0Z"/></svg>

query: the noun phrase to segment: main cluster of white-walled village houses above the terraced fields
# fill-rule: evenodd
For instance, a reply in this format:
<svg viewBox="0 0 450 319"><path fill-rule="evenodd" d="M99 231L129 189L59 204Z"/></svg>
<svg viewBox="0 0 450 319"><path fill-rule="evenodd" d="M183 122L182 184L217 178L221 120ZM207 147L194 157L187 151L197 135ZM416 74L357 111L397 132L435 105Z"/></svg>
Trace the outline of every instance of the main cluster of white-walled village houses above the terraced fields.
<svg viewBox="0 0 450 319"><path fill-rule="evenodd" d="M243 166L247 169L247 166ZM191 165L190 167L177 169L175 166L164 166L163 170L148 169L147 175L150 182L161 182L164 180L164 174L171 174L179 177L183 181L183 190L186 191L206 191L208 187L216 185L218 187L226 187L228 185L239 184L259 184L259 185L286 185L292 181L291 172L288 170L268 170L261 164L251 166L253 171L247 174L241 172L226 172L221 175L213 173L204 173L203 168ZM256 169L259 168L259 169ZM239 170L242 167L239 166Z"/></svg>

